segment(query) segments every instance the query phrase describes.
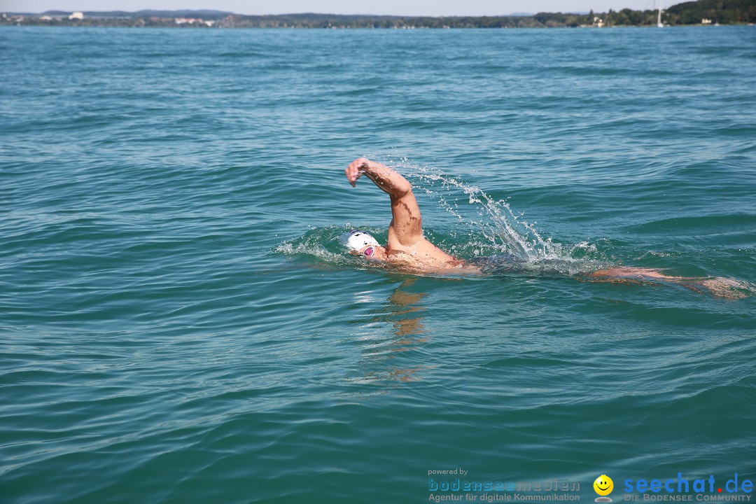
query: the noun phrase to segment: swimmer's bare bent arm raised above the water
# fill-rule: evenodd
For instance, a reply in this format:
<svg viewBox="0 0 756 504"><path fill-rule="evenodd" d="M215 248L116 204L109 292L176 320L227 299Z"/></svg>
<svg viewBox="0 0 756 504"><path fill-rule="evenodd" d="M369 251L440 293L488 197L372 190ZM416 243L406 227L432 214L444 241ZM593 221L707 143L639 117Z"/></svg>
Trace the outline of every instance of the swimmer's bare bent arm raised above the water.
<svg viewBox="0 0 756 504"><path fill-rule="evenodd" d="M355 159L346 169L346 178L352 187L361 175L367 175L381 190L391 196L393 220L389 227L389 246L392 234L403 246L412 246L423 237L420 224L420 207L412 193L412 186L407 179L380 162L361 157Z"/></svg>

